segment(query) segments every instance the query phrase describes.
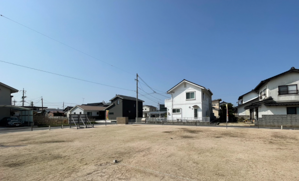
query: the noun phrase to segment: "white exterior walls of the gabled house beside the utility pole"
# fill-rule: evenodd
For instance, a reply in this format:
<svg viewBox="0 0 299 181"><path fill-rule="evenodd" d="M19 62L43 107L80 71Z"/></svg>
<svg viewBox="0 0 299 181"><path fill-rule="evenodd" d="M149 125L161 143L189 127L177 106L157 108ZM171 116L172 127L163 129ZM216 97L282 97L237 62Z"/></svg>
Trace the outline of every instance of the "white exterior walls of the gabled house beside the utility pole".
<svg viewBox="0 0 299 181"><path fill-rule="evenodd" d="M194 117L194 105L197 105L198 113L197 117L205 117L206 111L208 110L208 116L212 112L212 96L204 91L206 94L206 100L202 99L202 89L194 86L192 84L186 83L186 88L184 88L184 83L176 87L172 94L171 99L165 100L165 107L167 108L167 117L168 118L193 118ZM195 99L186 100L186 92L195 91ZM203 101L203 102L202 102ZM172 108L180 108L180 114L172 113Z"/></svg>

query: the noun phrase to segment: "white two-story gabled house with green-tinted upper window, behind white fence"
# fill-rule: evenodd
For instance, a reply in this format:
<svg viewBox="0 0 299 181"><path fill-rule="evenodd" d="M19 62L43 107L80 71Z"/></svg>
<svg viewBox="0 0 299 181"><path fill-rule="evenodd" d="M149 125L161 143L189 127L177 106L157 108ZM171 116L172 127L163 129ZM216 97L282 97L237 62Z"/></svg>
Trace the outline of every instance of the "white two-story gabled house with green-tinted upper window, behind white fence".
<svg viewBox="0 0 299 181"><path fill-rule="evenodd" d="M165 99L168 120L202 120L212 115L212 91L190 81L183 80L167 91Z"/></svg>

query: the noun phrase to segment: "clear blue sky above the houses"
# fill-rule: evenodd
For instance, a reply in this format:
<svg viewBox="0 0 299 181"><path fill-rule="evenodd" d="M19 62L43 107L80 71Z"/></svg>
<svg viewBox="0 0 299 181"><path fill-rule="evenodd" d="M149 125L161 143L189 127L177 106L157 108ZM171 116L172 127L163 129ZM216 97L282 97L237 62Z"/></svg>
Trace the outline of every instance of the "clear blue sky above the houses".
<svg viewBox="0 0 299 181"><path fill-rule="evenodd" d="M27 102L41 105L43 96L44 106L61 108L136 96L138 73L162 92L186 79L236 103L260 81L299 68L298 7L298 0L1 0L0 14L130 73L0 17L1 61L128 90L3 62L0 82L24 88ZM157 105L162 95L140 98Z"/></svg>

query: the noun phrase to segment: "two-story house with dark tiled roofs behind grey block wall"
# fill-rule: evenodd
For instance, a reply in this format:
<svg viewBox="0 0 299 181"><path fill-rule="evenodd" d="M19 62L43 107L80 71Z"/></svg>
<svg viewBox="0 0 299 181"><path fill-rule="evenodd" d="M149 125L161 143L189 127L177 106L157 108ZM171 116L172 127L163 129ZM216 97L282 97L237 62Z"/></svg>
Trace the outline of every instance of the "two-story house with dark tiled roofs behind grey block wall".
<svg viewBox="0 0 299 181"><path fill-rule="evenodd" d="M258 120L263 115L299 114L299 69L271 77L254 89L259 92L257 101L246 105L251 119Z"/></svg>

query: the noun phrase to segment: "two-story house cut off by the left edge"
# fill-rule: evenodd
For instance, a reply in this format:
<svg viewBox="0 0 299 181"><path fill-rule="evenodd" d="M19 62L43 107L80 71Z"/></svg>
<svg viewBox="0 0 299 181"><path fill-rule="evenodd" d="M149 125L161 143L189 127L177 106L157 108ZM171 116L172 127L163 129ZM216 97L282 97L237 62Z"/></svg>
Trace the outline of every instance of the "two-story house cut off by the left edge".
<svg viewBox="0 0 299 181"><path fill-rule="evenodd" d="M12 103L11 98L13 97L11 93L15 93L18 90L7 86L6 84L0 83L0 105L10 106ZM3 117L10 116L10 108L0 107L0 120Z"/></svg>

